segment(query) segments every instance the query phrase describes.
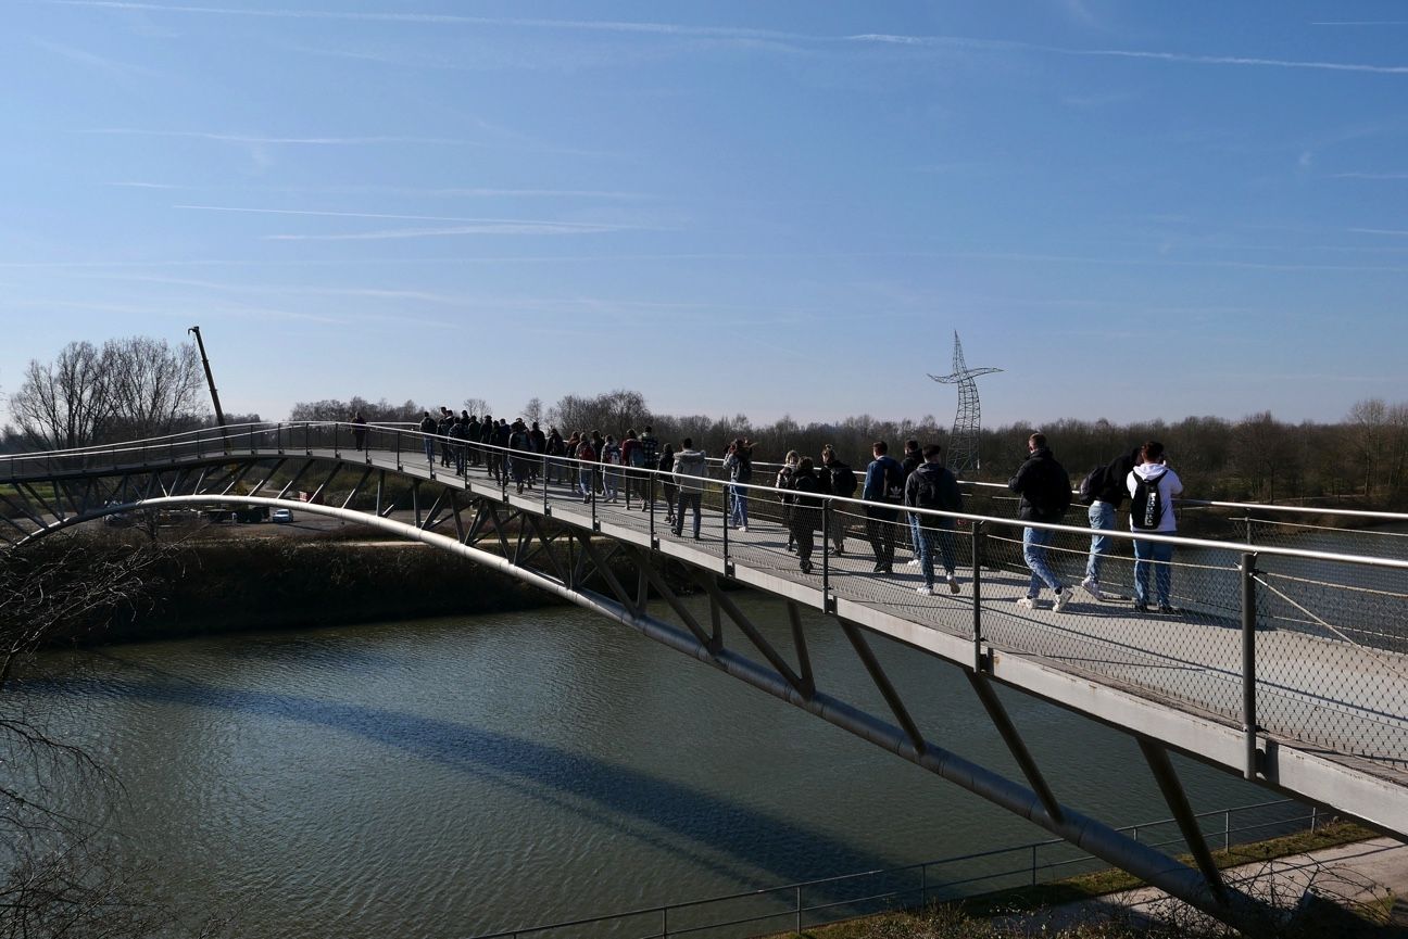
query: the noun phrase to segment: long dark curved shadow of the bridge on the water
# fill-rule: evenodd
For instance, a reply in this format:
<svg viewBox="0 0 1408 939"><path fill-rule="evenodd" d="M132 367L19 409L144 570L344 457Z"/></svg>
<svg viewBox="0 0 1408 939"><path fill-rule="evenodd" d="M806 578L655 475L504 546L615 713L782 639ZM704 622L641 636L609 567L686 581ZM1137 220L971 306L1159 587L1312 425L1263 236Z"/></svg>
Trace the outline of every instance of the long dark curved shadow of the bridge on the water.
<svg viewBox="0 0 1408 939"><path fill-rule="evenodd" d="M141 677L45 679L23 688L34 697L214 708L352 733L458 773L493 779L527 798L655 850L683 856L696 870L708 870L731 884L708 890L711 894L881 870L911 860L884 857L727 795L521 736L384 708L218 687L130 662L122 664L138 669ZM679 883L673 895L652 900L697 898L698 888L690 891L687 876ZM865 888L873 891L876 881ZM843 902L855 890L824 887L808 893L817 900Z"/></svg>

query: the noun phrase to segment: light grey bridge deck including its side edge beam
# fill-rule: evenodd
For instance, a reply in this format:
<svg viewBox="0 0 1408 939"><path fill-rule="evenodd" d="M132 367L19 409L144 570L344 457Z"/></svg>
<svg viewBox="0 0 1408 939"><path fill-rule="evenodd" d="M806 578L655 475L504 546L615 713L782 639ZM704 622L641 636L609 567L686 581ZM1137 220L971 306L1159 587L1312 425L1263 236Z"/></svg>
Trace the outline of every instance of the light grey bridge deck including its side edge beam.
<svg viewBox="0 0 1408 939"><path fill-rule="evenodd" d="M279 449L241 453L246 459L277 459L280 455ZM696 541L690 536L691 525L686 527L683 538L672 534L663 501L655 503L653 512L641 511L639 501L627 501L624 487L621 501L604 503L598 497L584 504L563 484L551 484L546 491L539 484L518 496L514 487L504 489L490 479L483 467L470 467L459 477L438 466L438 460L429 463L424 456L413 458L406 452L300 448L287 455L353 466L365 463L401 476L434 479L452 490L507 501L525 511L549 511L565 522L589 529L597 527L617 541L732 574L776 595L829 607L846 619L959 664L973 666L981 645L991 652L987 667L1000 680L1222 766L1238 767L1245 762L1239 752L1245 735L1240 732L1243 636L1238 573L1240 552L1247 550L1245 545L1201 553L1180 549L1174 559L1174 598L1183 610L1149 615L1136 614L1128 598L1132 574L1126 559L1107 562L1104 577L1107 587L1115 584L1124 595L1097 601L1074 587L1084 566L1088 536L1062 534L1052 545L1052 566L1076 594L1063 612L1050 608L1049 591L1043 591L1042 608L1024 610L1015 603L1026 593L1029 580L1021 560L1021 524L990 519L977 597L981 608L979 643L973 635L979 619L974 615L973 549L970 534L962 529L956 536L962 591L949 594L941 573L938 593L921 595L915 593L921 583L918 567L905 566L911 557L905 525L898 525L895 532L894 573L874 573L865 519L852 517L845 553L824 557L825 543L818 531L814 570L804 574L797 556L786 549L787 529L776 503L753 498L749 531L725 531L718 508L721 484L712 480L705 496L701 538ZM208 452L146 456L158 458L159 467L168 469L214 466L222 460L220 453ZM34 477L72 474L82 479L96 472L117 473L122 469L114 465L117 462L84 463L65 472L51 469ZM134 463L128 469L139 472L151 465ZM453 536L453 521L442 518L435 531ZM826 591L822 590L824 565ZM1267 767L1266 779L1362 818L1383 818L1385 826L1408 832L1408 802L1404 800L1393 800L1391 819L1370 811L1390 790L1397 793L1408 786L1408 656L1404 655L1408 639L1402 615L1408 591L1402 590L1397 570L1366 574L1347 565L1326 565L1314 576L1290 572L1294 576L1274 583L1276 574L1269 574L1259 587L1256 714L1264 731L1264 757L1278 762ZM1349 577L1360 574L1371 590L1346 587ZM1322 603L1356 593L1377 594L1373 598L1377 605ZM1333 615L1326 612L1329 605L1335 605ZM1276 628L1260 629L1260 625ZM1273 742L1278 745L1274 755ZM1343 773L1326 771L1329 766ZM1352 798L1342 798L1346 780L1357 787Z"/></svg>

